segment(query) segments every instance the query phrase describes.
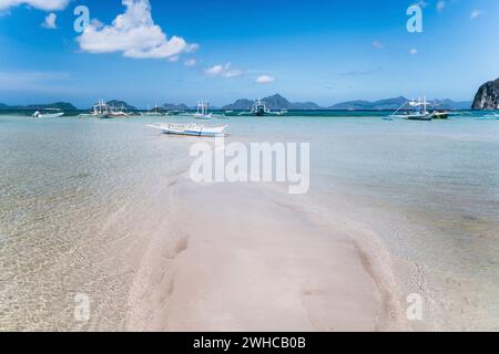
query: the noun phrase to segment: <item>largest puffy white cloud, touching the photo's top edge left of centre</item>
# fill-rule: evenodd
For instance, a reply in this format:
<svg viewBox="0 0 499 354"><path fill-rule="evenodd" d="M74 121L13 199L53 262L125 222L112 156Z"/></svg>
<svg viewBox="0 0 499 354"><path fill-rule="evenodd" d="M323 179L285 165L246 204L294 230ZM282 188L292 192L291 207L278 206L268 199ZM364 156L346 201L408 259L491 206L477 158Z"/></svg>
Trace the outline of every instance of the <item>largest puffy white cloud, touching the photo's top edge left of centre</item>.
<svg viewBox="0 0 499 354"><path fill-rule="evenodd" d="M197 44L183 38L166 38L161 27L154 24L149 0L123 0L126 10L111 25L92 21L78 38L80 49L89 53L123 52L126 58L169 59L194 52Z"/></svg>

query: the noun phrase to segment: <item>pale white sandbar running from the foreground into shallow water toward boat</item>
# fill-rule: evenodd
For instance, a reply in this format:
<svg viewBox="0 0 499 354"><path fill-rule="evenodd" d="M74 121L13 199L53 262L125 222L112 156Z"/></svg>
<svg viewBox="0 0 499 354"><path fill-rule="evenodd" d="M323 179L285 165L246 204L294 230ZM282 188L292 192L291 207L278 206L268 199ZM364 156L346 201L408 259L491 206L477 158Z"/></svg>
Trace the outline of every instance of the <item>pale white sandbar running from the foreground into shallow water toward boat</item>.
<svg viewBox="0 0 499 354"><path fill-rule="evenodd" d="M128 330L400 330L399 305L345 228L262 186L175 186L130 295ZM334 217L332 217L334 219Z"/></svg>

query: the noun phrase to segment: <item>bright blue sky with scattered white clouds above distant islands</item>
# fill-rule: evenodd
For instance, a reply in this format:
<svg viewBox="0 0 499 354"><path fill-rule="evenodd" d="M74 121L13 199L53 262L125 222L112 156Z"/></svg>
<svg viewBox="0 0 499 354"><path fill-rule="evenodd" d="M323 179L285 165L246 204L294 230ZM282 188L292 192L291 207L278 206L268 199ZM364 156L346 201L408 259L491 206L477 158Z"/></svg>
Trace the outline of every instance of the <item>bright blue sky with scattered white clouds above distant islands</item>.
<svg viewBox="0 0 499 354"><path fill-rule="evenodd" d="M0 0L0 103L471 101L498 32L497 0Z"/></svg>

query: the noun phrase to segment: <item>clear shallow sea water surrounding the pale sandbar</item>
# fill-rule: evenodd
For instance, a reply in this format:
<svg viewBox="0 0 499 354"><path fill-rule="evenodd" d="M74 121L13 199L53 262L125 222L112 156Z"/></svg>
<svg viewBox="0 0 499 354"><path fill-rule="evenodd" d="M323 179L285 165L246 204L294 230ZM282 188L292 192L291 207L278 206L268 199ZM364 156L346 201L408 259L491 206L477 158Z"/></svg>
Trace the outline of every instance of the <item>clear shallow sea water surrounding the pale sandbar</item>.
<svg viewBox="0 0 499 354"><path fill-rule="evenodd" d="M378 240L399 300L425 301L415 329L473 331L499 330L499 119L489 114L204 123L228 125L231 142L310 143L310 190L285 198ZM144 231L174 209L197 140L146 127L156 122L191 119L0 116L0 330L124 329ZM90 324L75 320L81 294L96 309Z"/></svg>

